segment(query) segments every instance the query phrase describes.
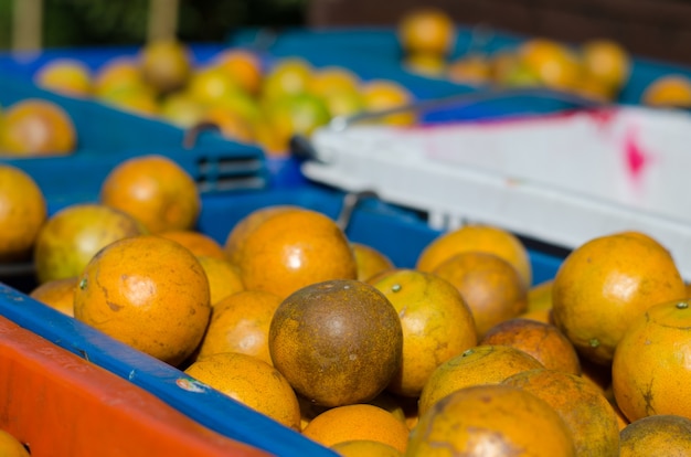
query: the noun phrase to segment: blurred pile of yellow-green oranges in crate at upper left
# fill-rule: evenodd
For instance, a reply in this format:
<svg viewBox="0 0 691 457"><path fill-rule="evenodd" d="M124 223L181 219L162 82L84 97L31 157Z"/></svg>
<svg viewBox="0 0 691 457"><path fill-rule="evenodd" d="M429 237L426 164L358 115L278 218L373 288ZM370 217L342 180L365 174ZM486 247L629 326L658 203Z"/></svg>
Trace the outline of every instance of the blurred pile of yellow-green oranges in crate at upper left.
<svg viewBox="0 0 691 457"><path fill-rule="evenodd" d="M298 56L268 64L254 51L234 47L196 64L187 44L170 40L150 42L137 55L114 57L96 70L76 59L56 59L39 68L34 81L182 128L213 124L225 137L272 156L287 153L291 136L309 136L336 116L413 102L394 81L365 82L346 67L316 68Z"/></svg>

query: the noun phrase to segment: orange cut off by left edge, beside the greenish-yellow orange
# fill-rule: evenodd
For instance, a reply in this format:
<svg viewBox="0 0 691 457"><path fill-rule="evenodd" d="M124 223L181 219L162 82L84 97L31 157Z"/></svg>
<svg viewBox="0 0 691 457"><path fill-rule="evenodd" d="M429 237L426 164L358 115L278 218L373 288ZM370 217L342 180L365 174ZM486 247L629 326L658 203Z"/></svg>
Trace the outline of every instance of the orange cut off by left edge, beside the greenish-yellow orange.
<svg viewBox="0 0 691 457"><path fill-rule="evenodd" d="M34 179L0 164L0 264L28 259L46 219L45 196Z"/></svg>

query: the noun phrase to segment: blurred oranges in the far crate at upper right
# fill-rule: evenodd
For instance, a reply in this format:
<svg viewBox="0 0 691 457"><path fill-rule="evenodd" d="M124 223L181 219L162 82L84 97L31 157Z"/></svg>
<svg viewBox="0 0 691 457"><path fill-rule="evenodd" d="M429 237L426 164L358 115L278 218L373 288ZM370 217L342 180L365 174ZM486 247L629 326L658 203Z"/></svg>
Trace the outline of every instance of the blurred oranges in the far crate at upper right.
<svg viewBox="0 0 691 457"><path fill-rule="evenodd" d="M469 49L454 53L457 29L437 8L415 8L397 24L404 52L402 65L411 72L476 87L545 87L593 100L617 102L632 71L630 53L612 39L566 44L539 36L495 51L485 49L481 28ZM638 100L652 107L691 107L691 78L681 73L650 81Z"/></svg>

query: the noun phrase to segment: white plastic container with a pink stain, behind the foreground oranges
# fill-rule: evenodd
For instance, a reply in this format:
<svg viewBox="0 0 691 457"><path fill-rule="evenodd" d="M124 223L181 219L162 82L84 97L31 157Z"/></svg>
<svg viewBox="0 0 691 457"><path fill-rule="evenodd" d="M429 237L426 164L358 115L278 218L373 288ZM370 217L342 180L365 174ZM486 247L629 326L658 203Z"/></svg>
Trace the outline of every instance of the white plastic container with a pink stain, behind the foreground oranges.
<svg viewBox="0 0 691 457"><path fill-rule="evenodd" d="M638 230L691 278L691 115L617 107L415 128L318 130L311 180L574 248Z"/></svg>

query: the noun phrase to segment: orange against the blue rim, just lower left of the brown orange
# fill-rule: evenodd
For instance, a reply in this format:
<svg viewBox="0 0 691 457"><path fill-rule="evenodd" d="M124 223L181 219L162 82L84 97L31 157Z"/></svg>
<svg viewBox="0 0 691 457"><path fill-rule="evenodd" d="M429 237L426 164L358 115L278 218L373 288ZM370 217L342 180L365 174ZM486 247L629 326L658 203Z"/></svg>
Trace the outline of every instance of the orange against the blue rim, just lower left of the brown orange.
<svg viewBox="0 0 691 457"><path fill-rule="evenodd" d="M184 373L295 431L300 407L281 373L253 355L223 352L198 360Z"/></svg>

